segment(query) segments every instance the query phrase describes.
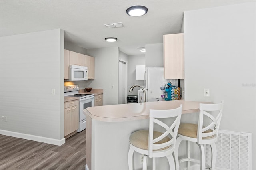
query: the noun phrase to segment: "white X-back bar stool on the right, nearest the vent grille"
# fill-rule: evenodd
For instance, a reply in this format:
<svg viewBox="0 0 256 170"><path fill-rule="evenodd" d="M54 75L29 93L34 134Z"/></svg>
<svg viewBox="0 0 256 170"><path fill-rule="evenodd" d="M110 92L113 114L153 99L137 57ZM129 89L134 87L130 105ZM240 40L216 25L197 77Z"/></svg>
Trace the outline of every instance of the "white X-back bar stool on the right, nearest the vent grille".
<svg viewBox="0 0 256 170"><path fill-rule="evenodd" d="M176 169L180 169L180 163L188 162L188 170L190 162L200 163L200 169L205 167L214 170L216 164L217 150L215 142L218 140L218 130L223 112L224 101L218 104L200 104L198 124L180 123L175 144L174 156ZM188 142L188 156L186 158L178 158L178 150L180 143L185 140ZM200 160L190 157L190 142L195 142L200 149ZM205 163L204 144L210 144L212 159L211 165Z"/></svg>

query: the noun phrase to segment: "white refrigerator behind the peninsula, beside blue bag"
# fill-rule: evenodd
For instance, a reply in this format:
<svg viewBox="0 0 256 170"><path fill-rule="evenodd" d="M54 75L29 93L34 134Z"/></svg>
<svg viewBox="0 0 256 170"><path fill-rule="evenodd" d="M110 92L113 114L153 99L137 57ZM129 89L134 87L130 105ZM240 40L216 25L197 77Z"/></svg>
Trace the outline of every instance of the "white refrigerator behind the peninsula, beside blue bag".
<svg viewBox="0 0 256 170"><path fill-rule="evenodd" d="M147 67L145 76L145 91L146 91L146 102L150 101L163 101L161 98L162 90L160 87L166 85L168 82L172 85L178 85L176 79L164 79L164 67ZM158 98L158 99L157 99ZM143 102L143 92L140 89L138 91L138 100Z"/></svg>

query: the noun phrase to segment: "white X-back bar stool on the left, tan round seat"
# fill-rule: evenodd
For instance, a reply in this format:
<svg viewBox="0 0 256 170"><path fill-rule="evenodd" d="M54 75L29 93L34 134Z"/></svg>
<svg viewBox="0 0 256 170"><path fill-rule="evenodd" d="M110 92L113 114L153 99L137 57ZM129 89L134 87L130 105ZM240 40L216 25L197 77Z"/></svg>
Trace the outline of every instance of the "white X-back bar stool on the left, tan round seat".
<svg viewBox="0 0 256 170"><path fill-rule="evenodd" d="M152 167L154 170L156 169L156 158L160 157L166 157L170 169L175 170L175 162L172 154L174 152L181 113L182 105L170 110L150 109L149 130L139 130L130 135L130 150L128 152L129 170L133 169L134 151L144 154L143 170L147 169L148 156L149 158L153 158ZM164 121L160 121L161 118L165 118ZM174 119L174 121L167 121L167 118ZM158 128L161 127L164 131L154 131L155 126Z"/></svg>

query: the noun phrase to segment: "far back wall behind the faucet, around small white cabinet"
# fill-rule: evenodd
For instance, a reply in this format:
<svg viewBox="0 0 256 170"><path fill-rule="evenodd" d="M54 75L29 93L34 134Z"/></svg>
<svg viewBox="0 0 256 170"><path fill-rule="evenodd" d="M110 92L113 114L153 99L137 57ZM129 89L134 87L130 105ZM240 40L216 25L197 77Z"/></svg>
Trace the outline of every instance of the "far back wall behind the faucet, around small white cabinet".
<svg viewBox="0 0 256 170"><path fill-rule="evenodd" d="M128 94L138 95L139 87L135 87L132 92L130 88L134 84L143 85L143 80L136 80L136 65L145 65L145 55L129 55L128 56Z"/></svg>

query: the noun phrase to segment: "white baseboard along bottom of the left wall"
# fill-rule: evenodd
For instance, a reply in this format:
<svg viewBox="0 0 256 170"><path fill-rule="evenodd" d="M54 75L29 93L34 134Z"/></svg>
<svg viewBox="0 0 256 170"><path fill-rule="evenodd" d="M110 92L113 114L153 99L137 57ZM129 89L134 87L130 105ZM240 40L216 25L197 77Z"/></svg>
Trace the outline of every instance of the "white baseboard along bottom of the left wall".
<svg viewBox="0 0 256 170"><path fill-rule="evenodd" d="M58 145L58 146L65 143L65 138L62 138L62 139L58 140L58 139L46 138L46 137L42 137L42 136L35 136L35 135L31 135L31 134L12 132L12 131L8 131L8 130L0 130L0 134L6 135L6 136L12 136L12 137L15 137L15 138L34 140L36 142L54 144L54 145Z"/></svg>

